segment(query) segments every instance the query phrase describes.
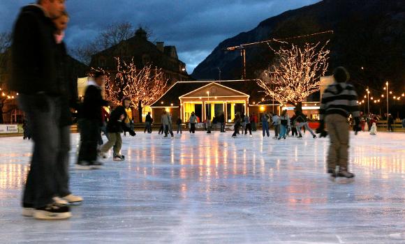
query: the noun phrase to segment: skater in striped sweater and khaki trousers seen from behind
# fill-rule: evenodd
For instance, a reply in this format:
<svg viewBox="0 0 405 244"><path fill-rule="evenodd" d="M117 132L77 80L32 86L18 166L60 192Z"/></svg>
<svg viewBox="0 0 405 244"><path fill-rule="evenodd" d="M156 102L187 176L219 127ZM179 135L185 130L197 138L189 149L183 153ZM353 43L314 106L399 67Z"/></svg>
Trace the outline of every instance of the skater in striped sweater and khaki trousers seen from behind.
<svg viewBox="0 0 405 244"><path fill-rule="evenodd" d="M353 178L355 175L348 171L349 132L347 118L352 114L355 121L355 132L360 131L360 112L357 105L358 96L354 87L347 84L349 74L343 67L333 72L334 82L325 89L319 116L321 124L318 131L330 135L330 148L327 153L327 173L332 177ZM325 119L325 121L324 121Z"/></svg>

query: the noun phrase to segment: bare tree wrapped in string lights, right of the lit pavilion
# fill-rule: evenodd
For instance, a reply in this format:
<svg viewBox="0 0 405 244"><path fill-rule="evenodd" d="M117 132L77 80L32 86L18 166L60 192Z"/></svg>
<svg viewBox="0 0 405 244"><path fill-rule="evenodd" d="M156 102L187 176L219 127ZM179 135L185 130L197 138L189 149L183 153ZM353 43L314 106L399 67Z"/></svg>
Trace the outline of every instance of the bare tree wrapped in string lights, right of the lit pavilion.
<svg viewBox="0 0 405 244"><path fill-rule="evenodd" d="M306 43L303 47L282 42L279 49L272 49L274 63L270 66L270 79L258 80L266 96L281 105L298 107L312 93L319 91L320 78L327 71L330 51L321 43ZM289 47L287 48L286 45Z"/></svg>

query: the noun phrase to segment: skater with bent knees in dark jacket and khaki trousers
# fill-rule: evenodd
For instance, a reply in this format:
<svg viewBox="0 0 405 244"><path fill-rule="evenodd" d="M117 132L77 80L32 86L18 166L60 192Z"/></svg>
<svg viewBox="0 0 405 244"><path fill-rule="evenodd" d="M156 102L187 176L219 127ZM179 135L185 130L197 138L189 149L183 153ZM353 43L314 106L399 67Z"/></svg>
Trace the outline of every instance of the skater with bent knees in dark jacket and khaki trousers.
<svg viewBox="0 0 405 244"><path fill-rule="evenodd" d="M136 135L136 133L131 130L131 128L128 128L128 126L125 125L125 119L127 116L125 107L127 107L126 105L128 104L131 104L131 100L129 100L128 98L124 98L124 100L122 101L122 106L116 107L110 114L110 121L108 121L107 123L108 142L101 146L100 149L100 155L102 158L107 158L106 153L108 153L108 151L110 151L110 149L112 148L112 160L125 160L125 156L121 155L121 133L126 131L131 136Z"/></svg>

